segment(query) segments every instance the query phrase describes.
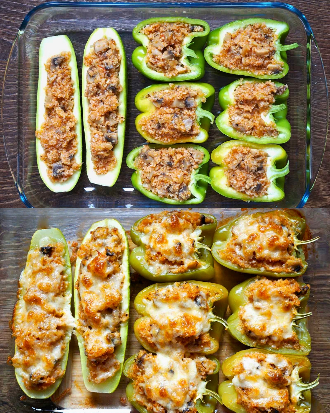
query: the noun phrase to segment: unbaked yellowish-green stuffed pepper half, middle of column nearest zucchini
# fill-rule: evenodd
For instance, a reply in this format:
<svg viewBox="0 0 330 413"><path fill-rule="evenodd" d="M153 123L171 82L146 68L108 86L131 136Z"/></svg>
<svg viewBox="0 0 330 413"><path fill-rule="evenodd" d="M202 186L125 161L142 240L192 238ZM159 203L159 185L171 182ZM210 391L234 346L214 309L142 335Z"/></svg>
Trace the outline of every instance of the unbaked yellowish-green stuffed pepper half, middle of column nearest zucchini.
<svg viewBox="0 0 330 413"><path fill-rule="evenodd" d="M135 106L137 131L160 145L205 142L214 115L214 88L208 83L169 83L140 90Z"/></svg>

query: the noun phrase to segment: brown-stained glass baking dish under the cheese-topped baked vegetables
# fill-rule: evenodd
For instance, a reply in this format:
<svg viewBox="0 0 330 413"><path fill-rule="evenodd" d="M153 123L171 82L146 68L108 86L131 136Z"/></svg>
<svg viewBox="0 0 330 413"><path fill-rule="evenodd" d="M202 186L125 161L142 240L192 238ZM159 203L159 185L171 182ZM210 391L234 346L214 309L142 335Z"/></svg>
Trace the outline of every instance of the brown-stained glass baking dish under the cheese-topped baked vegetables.
<svg viewBox="0 0 330 413"><path fill-rule="evenodd" d="M150 209L148 213L159 211ZM226 223L229 219L242 214L240 209L194 209L208 214L213 214L218 223ZM251 213L253 211L245 211ZM308 327L312 337L312 351L309 359L312 363L311 379L320 373L320 385L312 390L313 407L311 413L329 412L330 392L330 324L329 324L329 274L330 274L330 210L329 209L304 209L300 212L306 217L311 236L320 236L320 240L308 248L308 263L304 282L311 285L309 310L313 316L309 318ZM67 241L78 240L81 242L88 228L93 222L104 218L116 218L126 230L140 217L146 215L145 209L42 209L29 211L21 210L19 214L14 209L1 209L0 211L0 300L2 311L0 316L0 413L32 413L45 411L67 411L68 413L129 413L136 411L125 400L125 388L128 379L122 376L119 387L113 394L90 393L85 390L81 377L80 356L75 336L70 344L70 356L66 375L60 388L52 396L52 400L36 400L22 397L23 391L16 382L14 369L9 366L7 356L14 354L14 339L8 328L12 318L12 310L16 302L17 280L25 266L26 254L29 249L31 237L36 229L59 228ZM234 285L249 278L240 273L217 271L217 282L230 290ZM137 319L133 301L136 294L144 287L151 284L147 280L131 273L131 306L128 342L125 358L132 356L141 349L134 336L133 324ZM229 311L227 316L229 315ZM237 351L244 348L242 344L224 332L220 347L215 354L220 362ZM223 380L220 374L220 381ZM123 399L124 398L124 399ZM69 409L69 410L64 410ZM102 409L102 410L101 410ZM218 406L216 413L228 413L229 410Z"/></svg>

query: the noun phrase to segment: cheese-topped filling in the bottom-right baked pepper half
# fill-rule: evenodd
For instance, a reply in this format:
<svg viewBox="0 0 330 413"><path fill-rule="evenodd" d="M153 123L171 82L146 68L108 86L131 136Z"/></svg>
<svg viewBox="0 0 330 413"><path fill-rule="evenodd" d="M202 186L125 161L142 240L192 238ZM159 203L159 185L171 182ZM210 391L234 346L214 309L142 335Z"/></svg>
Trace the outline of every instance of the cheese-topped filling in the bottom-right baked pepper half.
<svg viewBox="0 0 330 413"><path fill-rule="evenodd" d="M296 371L281 354L247 353L234 368L237 403L247 413L294 413L289 386Z"/></svg>

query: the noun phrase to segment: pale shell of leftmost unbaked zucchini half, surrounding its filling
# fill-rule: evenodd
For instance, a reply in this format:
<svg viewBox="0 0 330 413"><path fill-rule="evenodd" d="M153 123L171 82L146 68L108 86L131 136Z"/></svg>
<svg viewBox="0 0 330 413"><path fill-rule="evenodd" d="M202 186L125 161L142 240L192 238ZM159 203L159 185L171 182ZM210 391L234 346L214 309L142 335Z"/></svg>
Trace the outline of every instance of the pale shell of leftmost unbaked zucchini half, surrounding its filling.
<svg viewBox="0 0 330 413"><path fill-rule="evenodd" d="M50 57L56 56L61 52L71 52L71 79L74 87L74 107L73 114L77 120L75 126L75 133L77 134L77 152L75 153L75 161L77 164L82 163L82 135L81 135L81 110L80 110L80 89L78 78L78 67L75 59L75 51L68 36L52 36L42 39L39 48L39 80L38 80L38 95L37 95L37 117L36 130L38 131L42 123L44 123L45 114L45 87L47 86L47 72L45 70L45 63ZM44 150L41 146L40 139L37 138L36 143L37 163L41 179L45 185L53 192L68 192L71 191L78 182L81 167L75 171L72 176L64 182L52 182L47 175L47 166L45 162L40 159L40 155Z"/></svg>

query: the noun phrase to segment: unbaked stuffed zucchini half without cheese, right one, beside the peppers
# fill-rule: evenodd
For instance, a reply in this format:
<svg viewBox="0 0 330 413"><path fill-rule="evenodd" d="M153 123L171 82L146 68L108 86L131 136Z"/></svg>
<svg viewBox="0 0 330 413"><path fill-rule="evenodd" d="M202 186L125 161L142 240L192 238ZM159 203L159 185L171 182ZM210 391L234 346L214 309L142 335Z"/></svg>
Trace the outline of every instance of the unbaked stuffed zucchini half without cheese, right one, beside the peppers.
<svg viewBox="0 0 330 413"><path fill-rule="evenodd" d="M126 55L112 27L97 28L88 39L82 64L82 110L87 176L113 186L123 159L127 107Z"/></svg>

